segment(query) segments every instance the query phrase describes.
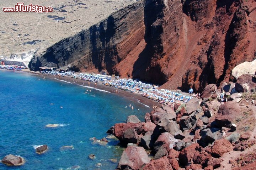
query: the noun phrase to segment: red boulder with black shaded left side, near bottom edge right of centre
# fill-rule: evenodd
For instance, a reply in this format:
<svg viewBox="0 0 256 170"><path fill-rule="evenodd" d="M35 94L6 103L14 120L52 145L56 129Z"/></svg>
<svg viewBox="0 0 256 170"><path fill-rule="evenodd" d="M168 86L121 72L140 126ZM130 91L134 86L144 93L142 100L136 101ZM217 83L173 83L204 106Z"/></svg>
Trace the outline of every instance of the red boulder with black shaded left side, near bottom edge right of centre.
<svg viewBox="0 0 256 170"><path fill-rule="evenodd" d="M191 160L194 156L194 153L196 153L197 151L201 150L201 147L199 146L198 143L194 143L192 145L190 145L189 147L183 149L180 152L179 155L179 161L182 165L186 165L187 163L191 163Z"/></svg>

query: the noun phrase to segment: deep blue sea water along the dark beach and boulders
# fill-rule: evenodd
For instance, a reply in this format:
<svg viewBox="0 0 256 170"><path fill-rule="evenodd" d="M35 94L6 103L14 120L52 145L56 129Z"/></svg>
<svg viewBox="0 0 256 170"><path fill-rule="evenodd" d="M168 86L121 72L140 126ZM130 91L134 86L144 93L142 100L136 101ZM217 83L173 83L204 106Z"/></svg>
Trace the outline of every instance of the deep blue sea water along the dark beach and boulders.
<svg viewBox="0 0 256 170"><path fill-rule="evenodd" d="M115 94L89 90L33 74L0 70L0 159L15 154L26 160L18 167L0 164L0 170L66 170L74 165L91 170L98 169L97 163L101 163L101 170L115 169L123 151L119 142L110 140L102 146L89 138L106 137L106 131L128 115L143 120L150 108ZM61 126L46 128L47 124ZM36 154L33 147L44 144L48 151ZM62 151L64 145L73 145L74 149ZM91 153L96 159L88 158Z"/></svg>

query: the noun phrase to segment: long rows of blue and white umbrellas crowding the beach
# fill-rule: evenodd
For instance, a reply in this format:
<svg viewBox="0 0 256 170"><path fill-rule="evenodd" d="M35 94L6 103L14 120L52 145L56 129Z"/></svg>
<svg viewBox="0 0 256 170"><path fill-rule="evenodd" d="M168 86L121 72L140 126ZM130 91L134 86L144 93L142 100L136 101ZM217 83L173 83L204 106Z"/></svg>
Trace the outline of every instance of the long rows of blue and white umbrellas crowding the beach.
<svg viewBox="0 0 256 170"><path fill-rule="evenodd" d="M172 103L187 103L189 100L191 100L191 98L196 97L196 94L193 94L192 89L190 89L189 93L181 93L181 91L160 89L159 86L143 83L142 81L138 80L122 79L115 75L75 73L72 71L60 72L57 70L43 70L40 73L53 75L54 78L57 79L60 77L71 77L73 79L82 81L82 86L96 87L97 84L100 83L105 86L115 88L115 92L122 90L126 91L127 93L129 92L132 94L137 94L156 102L156 105L154 105L153 108L158 107L158 105L172 106Z"/></svg>

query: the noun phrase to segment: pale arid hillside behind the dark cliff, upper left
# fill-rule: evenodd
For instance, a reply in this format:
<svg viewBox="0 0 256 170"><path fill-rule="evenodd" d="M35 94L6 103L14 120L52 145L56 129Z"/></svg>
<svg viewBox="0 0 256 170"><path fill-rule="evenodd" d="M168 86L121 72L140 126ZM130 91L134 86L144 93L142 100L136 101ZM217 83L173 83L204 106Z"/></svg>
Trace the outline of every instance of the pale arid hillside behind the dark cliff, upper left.
<svg viewBox="0 0 256 170"><path fill-rule="evenodd" d="M137 0L0 0L0 57L47 47L101 21L112 12ZM52 13L3 12L2 7L24 5L50 6ZM64 11L64 12L61 12ZM65 12L66 11L66 12ZM65 17L54 20L48 17ZM32 44L32 45L31 45Z"/></svg>

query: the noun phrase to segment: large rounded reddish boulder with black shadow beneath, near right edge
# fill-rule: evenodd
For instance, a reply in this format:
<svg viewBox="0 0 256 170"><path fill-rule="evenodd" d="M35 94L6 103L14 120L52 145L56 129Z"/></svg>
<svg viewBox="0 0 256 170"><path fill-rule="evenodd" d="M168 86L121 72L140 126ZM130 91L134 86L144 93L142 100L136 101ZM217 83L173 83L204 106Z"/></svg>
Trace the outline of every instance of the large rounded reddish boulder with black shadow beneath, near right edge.
<svg viewBox="0 0 256 170"><path fill-rule="evenodd" d="M215 121L219 128L230 128L235 119L241 115L241 109L238 103L233 101L226 102L219 107Z"/></svg>

